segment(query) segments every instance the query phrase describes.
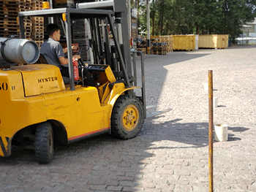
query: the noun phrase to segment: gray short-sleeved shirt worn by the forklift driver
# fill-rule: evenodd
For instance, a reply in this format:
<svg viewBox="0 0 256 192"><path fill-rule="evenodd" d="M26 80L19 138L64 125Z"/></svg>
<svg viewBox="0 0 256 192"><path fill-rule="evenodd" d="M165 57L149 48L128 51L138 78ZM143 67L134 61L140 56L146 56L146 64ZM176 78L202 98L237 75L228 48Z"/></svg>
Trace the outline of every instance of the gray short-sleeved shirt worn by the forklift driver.
<svg viewBox="0 0 256 192"><path fill-rule="evenodd" d="M47 41L42 43L40 53L45 56L48 64L58 66L59 69L61 69L61 62L59 61L59 58L64 57L65 55L60 42L49 38Z"/></svg>

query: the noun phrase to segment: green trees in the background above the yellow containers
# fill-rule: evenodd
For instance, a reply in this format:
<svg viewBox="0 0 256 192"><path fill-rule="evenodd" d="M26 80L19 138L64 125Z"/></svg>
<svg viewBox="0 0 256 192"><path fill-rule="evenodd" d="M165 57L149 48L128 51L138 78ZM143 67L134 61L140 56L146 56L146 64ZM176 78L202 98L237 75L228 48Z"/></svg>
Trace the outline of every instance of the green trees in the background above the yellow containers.
<svg viewBox="0 0 256 192"><path fill-rule="evenodd" d="M230 34L254 20L256 0L153 0L151 34ZM146 28L146 0L140 4L140 26Z"/></svg>

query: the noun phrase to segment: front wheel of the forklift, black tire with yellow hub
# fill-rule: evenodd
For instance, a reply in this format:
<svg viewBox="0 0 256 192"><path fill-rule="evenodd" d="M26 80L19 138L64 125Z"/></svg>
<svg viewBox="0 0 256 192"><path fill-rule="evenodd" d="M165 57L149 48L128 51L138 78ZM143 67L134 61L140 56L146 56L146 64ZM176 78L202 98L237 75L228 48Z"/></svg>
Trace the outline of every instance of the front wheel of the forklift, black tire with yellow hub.
<svg viewBox="0 0 256 192"><path fill-rule="evenodd" d="M111 134L119 139L136 137L143 126L143 104L136 96L120 96L111 115Z"/></svg>

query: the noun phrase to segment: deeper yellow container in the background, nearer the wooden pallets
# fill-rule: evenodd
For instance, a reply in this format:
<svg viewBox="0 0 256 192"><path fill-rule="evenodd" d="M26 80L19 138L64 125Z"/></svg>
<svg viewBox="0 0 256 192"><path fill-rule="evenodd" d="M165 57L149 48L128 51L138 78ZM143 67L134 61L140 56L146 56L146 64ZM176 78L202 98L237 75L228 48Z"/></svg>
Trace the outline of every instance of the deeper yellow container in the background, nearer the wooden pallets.
<svg viewBox="0 0 256 192"><path fill-rule="evenodd" d="M195 50L195 35L173 35L173 50Z"/></svg>

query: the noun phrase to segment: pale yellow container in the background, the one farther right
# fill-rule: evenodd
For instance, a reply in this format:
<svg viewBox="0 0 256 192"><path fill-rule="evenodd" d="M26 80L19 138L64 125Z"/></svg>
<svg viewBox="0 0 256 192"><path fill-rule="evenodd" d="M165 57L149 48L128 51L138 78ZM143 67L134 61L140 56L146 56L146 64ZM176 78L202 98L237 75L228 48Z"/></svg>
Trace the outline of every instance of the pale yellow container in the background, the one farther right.
<svg viewBox="0 0 256 192"><path fill-rule="evenodd" d="M228 34L224 35L199 35L198 47L199 48L215 48L225 49L228 47Z"/></svg>

